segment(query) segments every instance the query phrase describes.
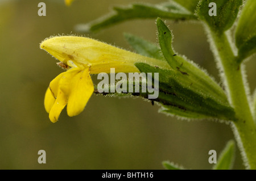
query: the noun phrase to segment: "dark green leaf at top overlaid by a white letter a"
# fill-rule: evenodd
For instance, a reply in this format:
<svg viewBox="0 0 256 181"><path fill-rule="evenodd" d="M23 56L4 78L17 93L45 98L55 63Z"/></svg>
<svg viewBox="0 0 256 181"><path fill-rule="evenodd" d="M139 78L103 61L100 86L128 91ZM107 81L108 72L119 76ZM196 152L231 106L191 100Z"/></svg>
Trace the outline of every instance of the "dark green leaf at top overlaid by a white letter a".
<svg viewBox="0 0 256 181"><path fill-rule="evenodd" d="M217 15L210 16L209 3L217 5ZM242 0L201 0L197 6L197 15L204 20L213 31L222 33L232 27L237 18L238 11L242 5Z"/></svg>

